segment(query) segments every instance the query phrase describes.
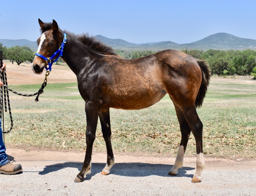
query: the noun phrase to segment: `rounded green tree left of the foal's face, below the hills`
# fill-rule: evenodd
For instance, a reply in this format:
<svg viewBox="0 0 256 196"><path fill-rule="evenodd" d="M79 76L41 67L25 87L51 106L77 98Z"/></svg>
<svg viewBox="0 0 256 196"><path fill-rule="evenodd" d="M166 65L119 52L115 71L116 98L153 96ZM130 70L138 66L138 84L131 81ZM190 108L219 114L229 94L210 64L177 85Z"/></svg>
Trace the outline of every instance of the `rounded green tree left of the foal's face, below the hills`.
<svg viewBox="0 0 256 196"><path fill-rule="evenodd" d="M16 63L20 65L25 61L32 62L34 59L34 52L26 46L13 46L7 49L6 59L9 59L12 64L16 61Z"/></svg>

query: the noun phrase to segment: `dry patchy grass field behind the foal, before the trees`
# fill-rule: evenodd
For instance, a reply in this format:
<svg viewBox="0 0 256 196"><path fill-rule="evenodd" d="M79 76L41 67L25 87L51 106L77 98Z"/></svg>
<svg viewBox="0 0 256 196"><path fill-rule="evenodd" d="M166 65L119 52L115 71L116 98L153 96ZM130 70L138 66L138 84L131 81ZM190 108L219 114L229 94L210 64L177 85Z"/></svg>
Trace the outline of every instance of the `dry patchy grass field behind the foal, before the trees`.
<svg viewBox="0 0 256 196"><path fill-rule="evenodd" d="M26 94L41 85L9 86ZM13 130L5 134L7 147L36 147L53 150L85 149L84 100L76 83L47 84L39 102L10 94ZM204 154L217 157L256 158L256 81L212 77L203 106L197 113L204 124ZM5 113L5 130L8 113ZM168 96L146 109L110 110L112 147L115 152L153 153L176 156L180 130ZM93 146L106 152L100 123ZM193 155L191 134L186 155Z"/></svg>

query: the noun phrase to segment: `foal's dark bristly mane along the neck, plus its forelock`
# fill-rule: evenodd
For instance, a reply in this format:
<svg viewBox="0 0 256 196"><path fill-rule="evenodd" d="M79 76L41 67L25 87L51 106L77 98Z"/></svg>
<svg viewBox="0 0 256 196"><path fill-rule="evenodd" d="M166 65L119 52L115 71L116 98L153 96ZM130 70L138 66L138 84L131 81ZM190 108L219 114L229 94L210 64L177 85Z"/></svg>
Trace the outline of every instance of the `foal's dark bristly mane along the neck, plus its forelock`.
<svg viewBox="0 0 256 196"><path fill-rule="evenodd" d="M52 29L52 23L46 22L43 24L43 27L41 27L41 34L43 34L45 31ZM66 31L65 31L66 32ZM83 43L85 46L89 47L93 51L99 52L101 54L107 54L107 55L117 55L116 52L108 45L105 45L104 43L100 42L99 40L95 39L92 36L89 36L89 34L82 34L82 35L75 35L73 33L68 32L69 35L75 37L76 40Z"/></svg>

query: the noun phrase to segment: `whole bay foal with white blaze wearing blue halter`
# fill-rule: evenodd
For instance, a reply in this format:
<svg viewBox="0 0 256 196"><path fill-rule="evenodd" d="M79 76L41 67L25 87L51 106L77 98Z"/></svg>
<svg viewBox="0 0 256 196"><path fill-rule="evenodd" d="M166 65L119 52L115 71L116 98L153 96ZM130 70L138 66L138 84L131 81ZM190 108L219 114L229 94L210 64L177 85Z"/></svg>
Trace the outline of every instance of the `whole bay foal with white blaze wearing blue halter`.
<svg viewBox="0 0 256 196"><path fill-rule="evenodd" d="M55 20L44 23L40 19L42 35L38 38L37 56L32 70L42 74L49 61L46 57L59 55L76 74L78 89L85 101L86 153L83 168L75 182L82 182L91 171L92 145L100 118L102 134L107 146L107 175L114 165L111 147L109 108L138 110L149 107L168 94L175 106L180 123L181 142L170 175L182 166L190 133L196 139L196 173L192 182L201 181L204 169L203 124L196 107L202 106L210 80L210 69L204 61L180 51L164 50L139 59L124 59L88 35L64 33ZM65 46L64 44L65 43ZM38 55L40 54L40 55ZM50 65L50 64L49 64Z"/></svg>

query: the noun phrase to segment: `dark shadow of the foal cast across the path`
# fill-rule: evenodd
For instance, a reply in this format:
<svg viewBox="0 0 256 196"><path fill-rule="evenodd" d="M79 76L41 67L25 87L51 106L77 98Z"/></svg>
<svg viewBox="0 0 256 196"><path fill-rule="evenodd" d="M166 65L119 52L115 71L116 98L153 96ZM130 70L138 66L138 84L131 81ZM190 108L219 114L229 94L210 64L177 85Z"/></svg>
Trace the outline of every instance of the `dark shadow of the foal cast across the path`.
<svg viewBox="0 0 256 196"><path fill-rule="evenodd" d="M90 180L92 176L100 173L105 167L106 163L92 163L91 174L87 174L84 180ZM58 171L65 168L77 168L78 172L82 169L83 163L81 162L65 162L57 163L53 165L45 166L44 170L39 172L39 175L46 175L51 172ZM128 176L128 177L145 177L145 176L163 176L163 177L173 177L168 175L168 172L173 165L167 164L150 164L150 163L116 163L110 171L110 174L118 176ZM175 177L189 177L192 178L192 174L187 174L188 170L193 170L195 168L182 167L179 169L179 173Z"/></svg>

